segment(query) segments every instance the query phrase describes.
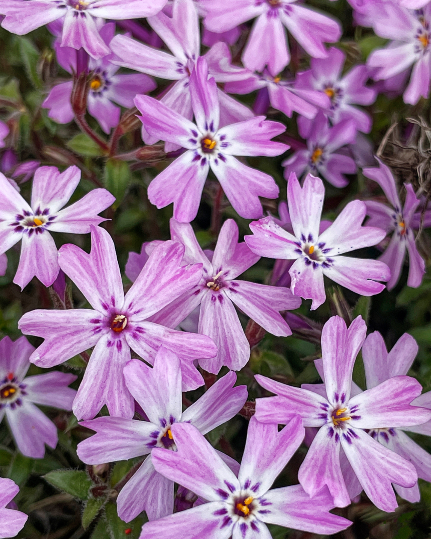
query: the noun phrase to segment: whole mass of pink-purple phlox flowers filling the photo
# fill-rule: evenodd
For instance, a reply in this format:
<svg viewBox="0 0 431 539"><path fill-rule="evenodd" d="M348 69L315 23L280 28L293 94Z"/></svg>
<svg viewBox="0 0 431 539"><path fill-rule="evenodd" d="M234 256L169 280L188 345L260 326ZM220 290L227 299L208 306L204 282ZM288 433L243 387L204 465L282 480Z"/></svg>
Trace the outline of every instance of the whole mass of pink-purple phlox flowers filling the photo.
<svg viewBox="0 0 431 539"><path fill-rule="evenodd" d="M234 371L250 357L235 306L272 335L286 337L296 321L287 311L297 309L302 298L312 300L311 310L325 302L324 276L372 296L396 285L407 250L407 284L422 282L425 261L414 230L431 225L431 211L411 184L405 185L402 207L391 170L380 160L378 167L367 166L375 161L358 148L372 119L357 105L376 99L379 87L366 86L368 78L384 80L384 91L403 92L406 103L428 96L431 4L351 4L358 24L392 41L373 51L367 65L343 75L345 54L324 45L337 42L340 25L295 0L0 0L6 30L24 34L49 25L59 65L74 80L91 73L88 113L105 133L120 121L117 105L135 105L142 140L163 141L165 151L177 156L148 188L157 208L173 203L171 239L129 253L126 275L133 284L126 294L113 240L98 226L106 220L99 213L115 200L110 192L94 189L65 208L80 182L78 167L60 173L29 162L10 178L0 174L0 274L6 271L6 251L21 240L13 282L23 289L37 277L64 296L67 275L91 306L24 314L19 329L44 339L36 349L25 336L0 341L0 420L6 416L19 451L32 458L42 458L45 444L56 447L58 441L57 427L35 404L72 410L80 425L95 431L78 446L85 464L147 455L117 498L125 522L146 511L142 539L173 533L268 539L266 523L333 534L351 522L330 510L350 505L362 490L391 512L397 507L392 485L414 502L420 497L418 476L431 481L431 455L404 432L431 434L431 392L421 395L421 385L407 376L418 345L404 334L388 353L378 332L366 336L360 316L348 328L338 316L326 322L322 357L315 361L323 384L297 388L256 375L275 396L256 400L241 465L204 438L248 398L246 386L235 386ZM203 43L210 47L204 56L200 15ZM130 20L142 17L152 32ZM254 18L244 67L232 65L228 44ZM128 33L115 35L113 20ZM312 57L310 69L295 80L279 75L291 60L284 26ZM153 46L162 43L172 54ZM139 73L117 74L120 66ZM156 99L145 95L156 88L152 77L174 82ZM61 82L43 103L57 122L76 115L73 88L72 80ZM256 90L254 110L228 95ZM289 117L298 113L306 140L282 163L287 205L279 206L279 218L264 217L259 199L278 197L275 180L242 158L289 149L271 140L285 126L265 119L269 104ZM1 122L0 139L6 136ZM318 176L342 188L345 174L358 166L380 185L388 203L354 200L333 223L321 220L325 186ZM238 242L235 221L226 220L214 252L202 250L190 225L210 169L237 214L255 219L244 242ZM26 179L33 176L30 204L13 180L24 172ZM91 252L73 244L57 250L51 232L91 233ZM378 260L343 256L371 246L382 251ZM276 260L271 285L237 279L261 257ZM25 378L30 363L52 368L89 349L78 391L69 388L76 376L63 372ZM352 382L360 350L365 391ZM132 351L146 363L132 359ZM182 392L204 385L199 367L217 375L223 366L228 374L183 411ZM105 405L110 416L96 417ZM285 426L279 431L280 424ZM271 490L306 430L309 450L299 485ZM175 482L196 500L193 508L173 514ZM26 515L10 508L17 493L13 482L0 479L0 490L0 537L10 537Z"/></svg>

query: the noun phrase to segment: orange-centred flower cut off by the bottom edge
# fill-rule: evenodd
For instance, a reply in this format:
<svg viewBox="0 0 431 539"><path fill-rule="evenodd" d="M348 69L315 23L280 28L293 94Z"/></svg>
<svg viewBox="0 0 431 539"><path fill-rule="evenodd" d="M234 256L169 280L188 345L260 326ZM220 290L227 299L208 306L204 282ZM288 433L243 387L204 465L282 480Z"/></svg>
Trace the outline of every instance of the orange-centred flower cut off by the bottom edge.
<svg viewBox="0 0 431 539"><path fill-rule="evenodd" d="M250 419L238 476L195 426L172 425L176 452L155 448L154 467L201 497L203 503L143 525L140 539L270 539L265 523L334 534L350 526L332 515L327 489L312 499L300 485L275 488L272 483L304 438L299 417L280 432L276 424Z"/></svg>

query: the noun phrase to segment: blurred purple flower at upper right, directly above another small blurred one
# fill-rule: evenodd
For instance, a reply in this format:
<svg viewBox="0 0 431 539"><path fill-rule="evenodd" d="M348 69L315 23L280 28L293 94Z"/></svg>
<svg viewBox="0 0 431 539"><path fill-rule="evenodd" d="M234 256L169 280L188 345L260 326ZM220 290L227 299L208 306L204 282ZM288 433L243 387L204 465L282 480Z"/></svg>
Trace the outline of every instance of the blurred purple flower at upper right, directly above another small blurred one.
<svg viewBox="0 0 431 539"><path fill-rule="evenodd" d="M368 70L365 65L355 65L342 75L346 55L335 47L323 59L312 58L310 70L297 73L295 87L321 92L330 99L328 111L332 124L352 119L358 130L370 133L372 119L364 110L353 105L371 105L376 92L367 88ZM302 114L302 113L300 113ZM305 116L305 114L304 114Z"/></svg>

